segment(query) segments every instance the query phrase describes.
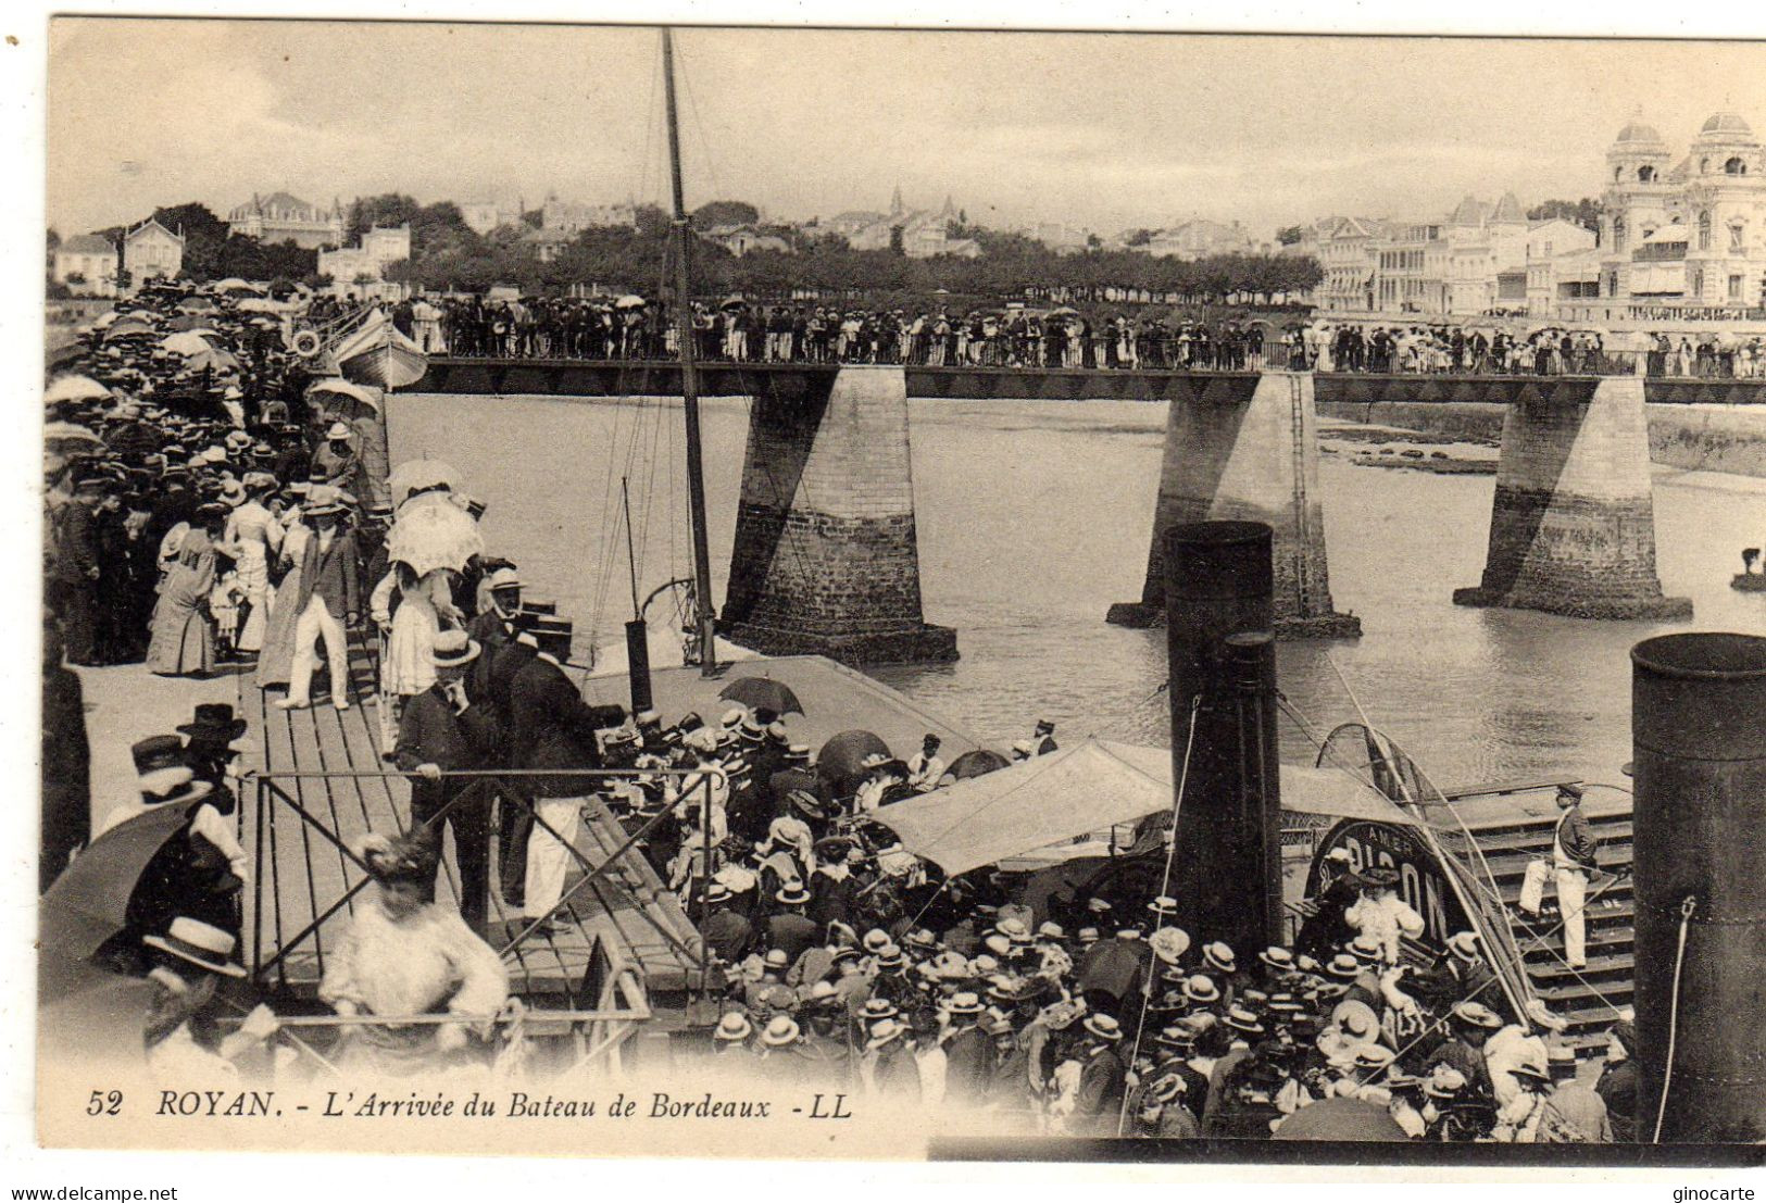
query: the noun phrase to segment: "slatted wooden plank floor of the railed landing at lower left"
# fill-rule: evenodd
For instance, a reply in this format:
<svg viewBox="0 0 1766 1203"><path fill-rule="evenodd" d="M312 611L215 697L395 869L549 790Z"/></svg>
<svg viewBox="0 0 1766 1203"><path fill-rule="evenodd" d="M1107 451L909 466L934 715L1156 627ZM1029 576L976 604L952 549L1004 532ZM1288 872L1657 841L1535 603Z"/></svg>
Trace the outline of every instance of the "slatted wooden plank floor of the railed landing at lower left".
<svg viewBox="0 0 1766 1203"><path fill-rule="evenodd" d="M247 957L265 984L295 996L316 993L325 950L336 947L355 906L364 873L348 850L369 830L403 832L410 821L410 784L381 760L374 680L374 648L364 636L351 638L355 705L348 710L325 696L306 710L281 710L283 689L256 689L242 678L242 714L261 749L258 797L247 795L240 807L240 839L256 866L245 887ZM592 800L576 843L581 862L565 890L585 876L585 864L604 864L623 841L618 820ZM484 934L503 950L514 989L530 1005L588 1005L597 940L618 952L648 993L683 991L696 979L698 933L636 851L567 896L567 922L521 940L526 922L503 901L494 853L493 843ZM436 896L459 901L452 830Z"/></svg>

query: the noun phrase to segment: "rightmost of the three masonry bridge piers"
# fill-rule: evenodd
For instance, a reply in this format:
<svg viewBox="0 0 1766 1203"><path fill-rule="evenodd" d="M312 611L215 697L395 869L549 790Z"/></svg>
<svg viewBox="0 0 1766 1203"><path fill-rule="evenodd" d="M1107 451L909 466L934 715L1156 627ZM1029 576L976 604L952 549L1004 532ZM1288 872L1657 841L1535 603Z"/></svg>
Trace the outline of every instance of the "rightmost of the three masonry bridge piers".
<svg viewBox="0 0 1766 1203"><path fill-rule="evenodd" d="M1510 401L1483 579L1453 601L1692 618L1692 602L1664 597L1657 576L1642 380L1538 382Z"/></svg>

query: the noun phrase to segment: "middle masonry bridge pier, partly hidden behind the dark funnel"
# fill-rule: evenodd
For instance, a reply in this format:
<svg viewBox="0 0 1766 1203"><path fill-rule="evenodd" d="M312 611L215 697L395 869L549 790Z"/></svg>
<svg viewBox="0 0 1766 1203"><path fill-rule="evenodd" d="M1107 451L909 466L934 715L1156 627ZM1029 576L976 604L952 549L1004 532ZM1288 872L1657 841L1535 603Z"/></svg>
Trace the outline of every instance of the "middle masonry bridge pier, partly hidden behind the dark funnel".
<svg viewBox="0 0 1766 1203"><path fill-rule="evenodd" d="M1360 636L1360 618L1332 606L1317 473L1312 373L1183 378L1166 419L1141 601L1111 606L1107 620L1164 625L1164 532L1171 526L1257 521L1275 532L1275 632L1286 639Z"/></svg>

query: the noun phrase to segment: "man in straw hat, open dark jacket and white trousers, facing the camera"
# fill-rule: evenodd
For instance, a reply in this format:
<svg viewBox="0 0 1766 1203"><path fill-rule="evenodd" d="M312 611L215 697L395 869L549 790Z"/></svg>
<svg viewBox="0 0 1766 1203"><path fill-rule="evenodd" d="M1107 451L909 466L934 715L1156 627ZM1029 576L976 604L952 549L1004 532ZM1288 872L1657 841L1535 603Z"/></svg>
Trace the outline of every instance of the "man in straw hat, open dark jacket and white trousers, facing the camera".
<svg viewBox="0 0 1766 1203"><path fill-rule="evenodd" d="M355 532L343 526L346 507L337 489L314 486L306 505L313 526L300 564L300 588L295 606L295 662L288 677L288 696L275 705L304 710L313 705L313 671L318 668L314 643L325 639L330 664L330 698L339 710L350 708L350 645L346 625L355 625L362 611L362 567ZM283 604L283 599L277 599Z"/></svg>

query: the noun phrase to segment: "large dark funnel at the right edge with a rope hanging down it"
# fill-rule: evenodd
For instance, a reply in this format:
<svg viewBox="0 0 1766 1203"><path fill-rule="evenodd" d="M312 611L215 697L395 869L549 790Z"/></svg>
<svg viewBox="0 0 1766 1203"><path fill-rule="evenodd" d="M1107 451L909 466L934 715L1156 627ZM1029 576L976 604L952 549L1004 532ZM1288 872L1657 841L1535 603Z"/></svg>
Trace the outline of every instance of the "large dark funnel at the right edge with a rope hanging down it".
<svg viewBox="0 0 1766 1203"><path fill-rule="evenodd" d="M1766 1139L1766 639L1634 647L1632 753L1637 1138Z"/></svg>

